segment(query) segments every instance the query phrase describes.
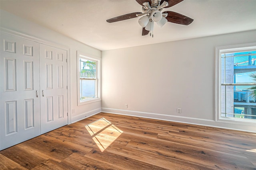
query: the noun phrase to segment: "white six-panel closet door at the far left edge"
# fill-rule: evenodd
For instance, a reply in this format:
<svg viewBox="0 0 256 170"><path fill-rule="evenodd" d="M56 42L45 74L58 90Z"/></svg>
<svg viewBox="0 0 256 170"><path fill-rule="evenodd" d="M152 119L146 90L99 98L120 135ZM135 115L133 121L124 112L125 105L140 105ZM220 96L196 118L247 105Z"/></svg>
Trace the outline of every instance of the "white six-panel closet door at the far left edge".
<svg viewBox="0 0 256 170"><path fill-rule="evenodd" d="M39 43L0 34L0 150L40 135Z"/></svg>

